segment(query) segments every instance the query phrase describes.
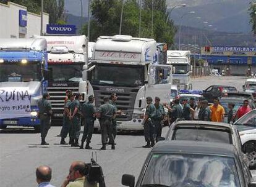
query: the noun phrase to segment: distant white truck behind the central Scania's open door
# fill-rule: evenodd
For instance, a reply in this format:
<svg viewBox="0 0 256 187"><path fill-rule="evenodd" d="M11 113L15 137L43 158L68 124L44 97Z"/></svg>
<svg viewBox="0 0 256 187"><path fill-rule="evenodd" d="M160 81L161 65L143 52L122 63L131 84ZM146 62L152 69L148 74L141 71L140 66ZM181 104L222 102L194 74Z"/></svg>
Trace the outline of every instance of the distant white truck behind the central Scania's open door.
<svg viewBox="0 0 256 187"><path fill-rule="evenodd" d="M190 90L190 74L192 66L190 65L190 50L168 50L167 65L173 66L173 84L177 85L179 90Z"/></svg>

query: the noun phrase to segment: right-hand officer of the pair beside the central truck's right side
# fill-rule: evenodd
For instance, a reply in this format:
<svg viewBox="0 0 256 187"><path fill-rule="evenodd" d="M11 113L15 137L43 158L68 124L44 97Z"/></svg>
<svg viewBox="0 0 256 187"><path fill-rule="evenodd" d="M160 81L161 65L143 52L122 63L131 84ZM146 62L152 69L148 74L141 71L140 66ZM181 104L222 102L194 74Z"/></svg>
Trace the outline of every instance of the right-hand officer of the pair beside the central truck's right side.
<svg viewBox="0 0 256 187"><path fill-rule="evenodd" d="M164 119L164 108L163 105L160 103L160 98L155 97L155 116L153 117L153 122L155 126L155 134L156 134L156 142L159 141L159 138L162 135L162 125Z"/></svg>

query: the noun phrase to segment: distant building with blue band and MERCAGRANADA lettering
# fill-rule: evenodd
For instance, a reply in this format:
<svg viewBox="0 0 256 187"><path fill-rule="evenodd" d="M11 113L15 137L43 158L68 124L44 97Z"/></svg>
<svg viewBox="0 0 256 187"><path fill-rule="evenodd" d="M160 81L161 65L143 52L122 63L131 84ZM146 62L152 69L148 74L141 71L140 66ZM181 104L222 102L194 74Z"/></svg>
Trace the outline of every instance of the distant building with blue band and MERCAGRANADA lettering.
<svg viewBox="0 0 256 187"><path fill-rule="evenodd" d="M256 72L256 47L203 46L201 58L219 72L227 69L231 75Z"/></svg>

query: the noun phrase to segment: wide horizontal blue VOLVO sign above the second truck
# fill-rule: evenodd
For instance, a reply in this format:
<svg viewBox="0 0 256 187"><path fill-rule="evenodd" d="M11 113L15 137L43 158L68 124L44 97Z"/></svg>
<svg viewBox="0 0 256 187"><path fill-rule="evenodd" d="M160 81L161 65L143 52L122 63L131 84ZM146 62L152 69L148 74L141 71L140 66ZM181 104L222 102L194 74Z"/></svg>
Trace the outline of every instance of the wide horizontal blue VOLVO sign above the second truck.
<svg viewBox="0 0 256 187"><path fill-rule="evenodd" d="M46 25L47 34L75 34L75 25Z"/></svg>

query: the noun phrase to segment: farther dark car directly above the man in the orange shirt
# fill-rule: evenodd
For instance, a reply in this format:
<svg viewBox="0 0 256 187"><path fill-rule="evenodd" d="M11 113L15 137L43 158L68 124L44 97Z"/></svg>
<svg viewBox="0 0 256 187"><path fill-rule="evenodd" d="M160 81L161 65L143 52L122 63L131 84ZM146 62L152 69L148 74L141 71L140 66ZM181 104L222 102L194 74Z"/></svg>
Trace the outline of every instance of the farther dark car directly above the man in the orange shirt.
<svg viewBox="0 0 256 187"><path fill-rule="evenodd" d="M208 102L212 103L214 98L221 97L224 93L230 91L237 91L237 89L233 86L212 85L203 90L203 97L205 97Z"/></svg>

